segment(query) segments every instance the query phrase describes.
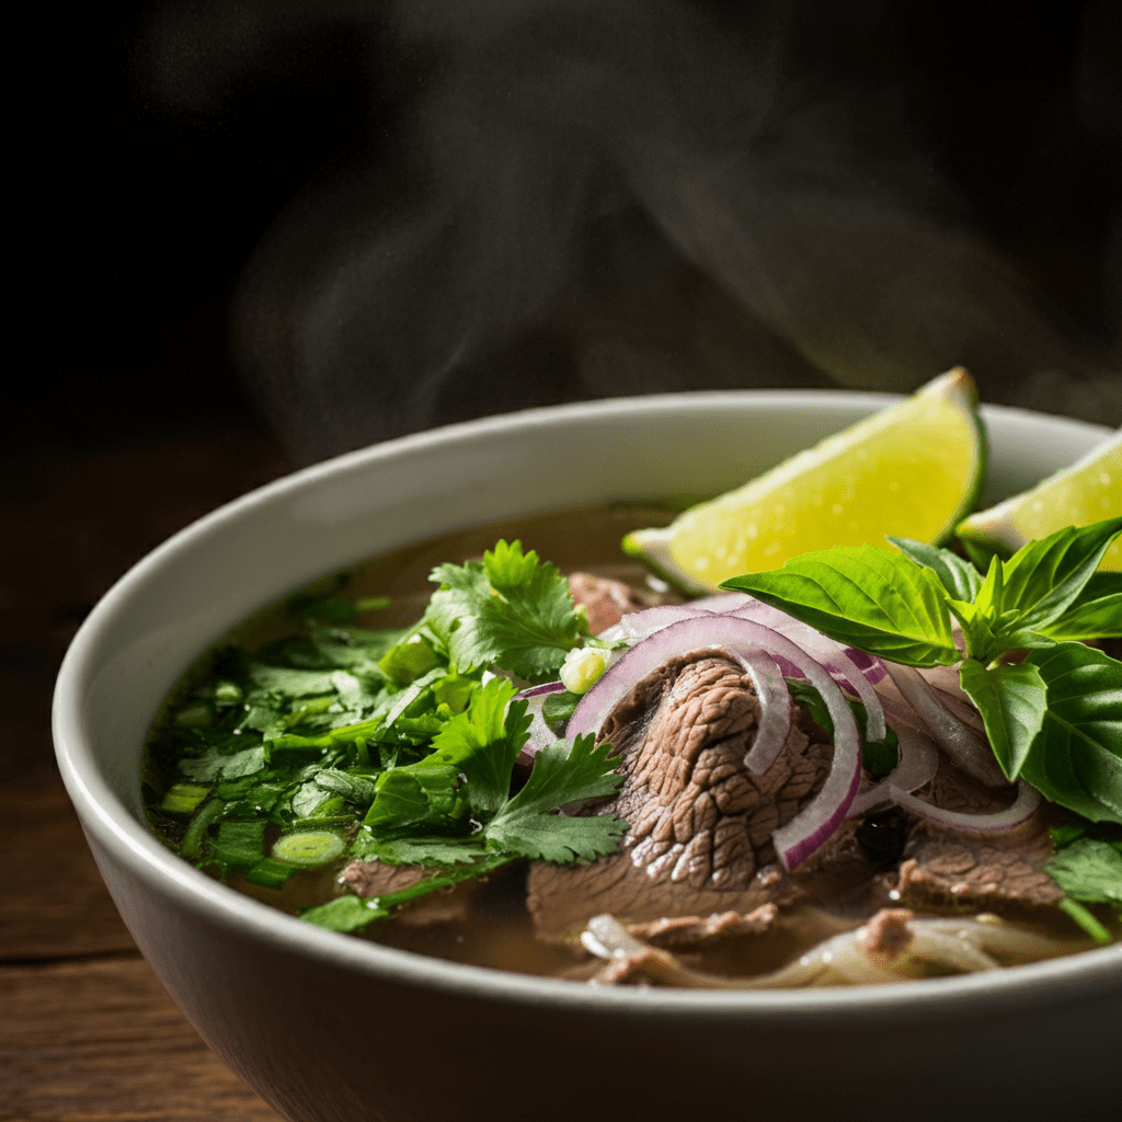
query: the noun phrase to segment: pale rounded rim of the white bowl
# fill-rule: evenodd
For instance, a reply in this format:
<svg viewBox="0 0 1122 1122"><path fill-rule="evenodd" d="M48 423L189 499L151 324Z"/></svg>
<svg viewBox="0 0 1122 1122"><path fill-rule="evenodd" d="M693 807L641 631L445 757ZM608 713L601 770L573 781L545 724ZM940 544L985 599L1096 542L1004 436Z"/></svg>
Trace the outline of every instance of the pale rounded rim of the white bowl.
<svg viewBox="0 0 1122 1122"><path fill-rule="evenodd" d="M699 990L589 986L580 982L535 977L489 967L470 966L399 950L327 931L237 892L201 873L165 848L113 793L98 765L91 738L84 728L86 687L96 672L99 647L107 632L127 616L130 600L169 560L193 550L227 522L360 467L424 453L445 444L471 443L521 431L611 421L681 411L703 412L714 407L794 408L818 412L837 407L843 412L872 411L904 395L854 390L700 390L652 394L640 397L603 398L563 405L521 410L496 416L443 425L346 452L275 479L227 503L178 531L134 564L99 600L72 641L56 680L52 726L59 771L92 843L153 891L229 931L261 940L291 954L315 959L340 969L412 985L419 990L471 995L495 1002L550 1005L618 1015L675 1019L719 1018L816 1023L858 1020L925 1020L962 1015L984 1002L991 1010L1075 1000L1098 992L1104 983L1122 980L1122 944L1086 950L1064 958L974 974L908 984L863 985L821 990L712 992ZM1091 436L1111 430L1076 421L1019 410L983 405L987 422L1069 426ZM231 626L237 620L231 622Z"/></svg>

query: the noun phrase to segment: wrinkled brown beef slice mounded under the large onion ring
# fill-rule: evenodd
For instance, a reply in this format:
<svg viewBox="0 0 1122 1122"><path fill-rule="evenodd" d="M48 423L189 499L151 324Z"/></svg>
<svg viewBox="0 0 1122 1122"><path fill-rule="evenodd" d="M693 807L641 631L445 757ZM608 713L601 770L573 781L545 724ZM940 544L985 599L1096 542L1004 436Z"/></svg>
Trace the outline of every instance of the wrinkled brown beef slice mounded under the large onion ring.
<svg viewBox="0 0 1122 1122"><path fill-rule="evenodd" d="M813 798L834 751L795 709L787 749L753 775L744 756L760 702L737 664L698 651L640 682L600 730L626 778L595 812L631 824L623 852L589 865L536 864L528 907L539 935L571 935L600 912L629 923L747 914L825 893L824 880L835 893L867 882L874 871L848 827L795 875L776 859L772 831Z"/></svg>

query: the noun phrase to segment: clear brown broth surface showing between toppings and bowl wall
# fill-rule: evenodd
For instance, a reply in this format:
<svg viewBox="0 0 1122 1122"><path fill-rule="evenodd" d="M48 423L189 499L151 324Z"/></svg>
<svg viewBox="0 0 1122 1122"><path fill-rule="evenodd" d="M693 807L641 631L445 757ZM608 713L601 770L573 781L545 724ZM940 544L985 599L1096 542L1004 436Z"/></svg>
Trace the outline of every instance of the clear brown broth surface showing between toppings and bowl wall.
<svg viewBox="0 0 1122 1122"><path fill-rule="evenodd" d="M572 511L506 519L392 551L350 573L348 596L355 599L388 596L392 600L389 608L377 613L376 624L361 617L356 625L408 626L423 611L433 589L429 574L436 564L478 558L500 537L521 540L527 550L535 550L562 572L591 572L650 589L646 570L623 557L619 541L631 530L664 524L671 517L669 511L649 506ZM292 627L291 617L286 618L282 609L274 609L237 628L232 637L245 649L255 651L291 633ZM149 767L155 766L149 761ZM879 834L875 828L865 828L864 835L862 837L858 831L854 844L868 850L866 856L872 861L872 871L859 884L849 885L844 894L833 899L828 893L803 894L782 912L779 922L762 934L684 945L674 950L678 960L717 976L758 975L783 967L838 932L857 928L877 909L893 907L891 885L900 853L876 853L877 846L885 844L883 830ZM250 883L237 873L229 874L227 881L265 903L297 912L340 894L339 873L343 865L340 861L325 868L296 873L280 889ZM885 876L886 872L892 876ZM579 929L567 931L563 938L542 938L535 930L534 918L527 910L526 882L525 864L512 865L465 889L465 903L459 911L451 909L448 916L426 919L423 909L417 908L414 912L413 908L406 908L394 919L371 925L362 937L486 967L545 976L588 976L595 963L589 965L589 956L581 949ZM449 895L460 891L451 890ZM942 909L932 909L931 913L939 911ZM949 912L954 911L951 901ZM682 913L689 914L689 909ZM627 919L626 916L620 918ZM1042 921L1040 914L1029 917L1027 930L1039 931L1048 938L1059 936L1055 945L1042 945L1039 956L1068 953L1089 945L1073 940L1070 931L1065 930L1066 922L1056 912L1051 921L1055 930L1049 934L1046 931L1049 922ZM1116 925L1113 934L1120 934Z"/></svg>

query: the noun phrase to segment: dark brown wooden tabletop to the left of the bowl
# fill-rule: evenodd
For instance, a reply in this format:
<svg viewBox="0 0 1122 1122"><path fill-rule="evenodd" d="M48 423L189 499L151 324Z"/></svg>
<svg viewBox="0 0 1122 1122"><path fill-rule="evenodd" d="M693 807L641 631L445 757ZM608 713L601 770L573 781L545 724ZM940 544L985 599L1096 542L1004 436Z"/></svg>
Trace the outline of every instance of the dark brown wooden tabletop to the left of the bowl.
<svg viewBox="0 0 1122 1122"><path fill-rule="evenodd" d="M230 419L0 458L0 1119L276 1122L118 917L54 764L49 703L82 617L130 564L292 466Z"/></svg>

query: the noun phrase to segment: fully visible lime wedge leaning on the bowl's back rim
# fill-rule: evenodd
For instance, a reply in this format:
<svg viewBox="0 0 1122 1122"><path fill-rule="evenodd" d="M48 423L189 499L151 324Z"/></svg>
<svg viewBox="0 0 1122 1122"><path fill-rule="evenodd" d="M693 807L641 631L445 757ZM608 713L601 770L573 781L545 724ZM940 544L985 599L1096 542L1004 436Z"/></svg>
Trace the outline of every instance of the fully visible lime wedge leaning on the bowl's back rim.
<svg viewBox="0 0 1122 1122"><path fill-rule="evenodd" d="M789 558L885 535L946 539L977 499L985 433L962 367L765 475L628 534L624 550L689 591L716 589Z"/></svg>

